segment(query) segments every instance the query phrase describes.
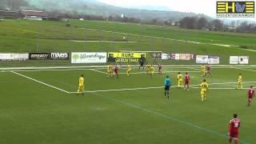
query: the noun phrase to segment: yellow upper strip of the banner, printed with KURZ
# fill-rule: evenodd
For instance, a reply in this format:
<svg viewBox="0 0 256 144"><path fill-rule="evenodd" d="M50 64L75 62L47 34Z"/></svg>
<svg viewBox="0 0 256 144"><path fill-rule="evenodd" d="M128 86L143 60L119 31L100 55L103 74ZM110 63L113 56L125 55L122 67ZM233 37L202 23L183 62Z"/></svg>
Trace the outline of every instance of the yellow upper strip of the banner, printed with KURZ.
<svg viewBox="0 0 256 144"><path fill-rule="evenodd" d="M146 58L146 53L110 52L108 58Z"/></svg>

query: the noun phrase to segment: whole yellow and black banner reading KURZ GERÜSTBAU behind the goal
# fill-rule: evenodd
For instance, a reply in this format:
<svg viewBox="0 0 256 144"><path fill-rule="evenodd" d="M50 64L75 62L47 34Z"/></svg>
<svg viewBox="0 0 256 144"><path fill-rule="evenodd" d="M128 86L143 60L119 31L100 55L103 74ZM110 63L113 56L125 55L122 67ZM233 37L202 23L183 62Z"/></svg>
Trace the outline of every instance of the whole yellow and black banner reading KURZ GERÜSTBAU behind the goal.
<svg viewBox="0 0 256 144"><path fill-rule="evenodd" d="M145 61L146 53L108 53L108 62L139 62L141 59Z"/></svg>

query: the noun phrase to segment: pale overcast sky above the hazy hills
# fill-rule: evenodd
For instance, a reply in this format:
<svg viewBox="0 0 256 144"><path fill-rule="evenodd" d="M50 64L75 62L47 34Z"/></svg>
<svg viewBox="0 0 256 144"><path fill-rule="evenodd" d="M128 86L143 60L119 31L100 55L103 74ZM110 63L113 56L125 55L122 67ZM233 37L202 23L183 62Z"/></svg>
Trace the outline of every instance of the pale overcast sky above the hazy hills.
<svg viewBox="0 0 256 144"><path fill-rule="evenodd" d="M217 0L98 0L114 6L166 6L170 10L216 15Z"/></svg>

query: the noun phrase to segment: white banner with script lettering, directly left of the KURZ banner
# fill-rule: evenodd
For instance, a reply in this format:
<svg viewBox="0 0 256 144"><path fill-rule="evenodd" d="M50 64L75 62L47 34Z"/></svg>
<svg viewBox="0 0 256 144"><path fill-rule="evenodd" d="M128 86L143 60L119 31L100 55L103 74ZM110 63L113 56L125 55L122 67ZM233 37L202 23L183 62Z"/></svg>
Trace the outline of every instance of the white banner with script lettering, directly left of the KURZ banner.
<svg viewBox="0 0 256 144"><path fill-rule="evenodd" d="M106 63L105 52L71 53L71 63Z"/></svg>

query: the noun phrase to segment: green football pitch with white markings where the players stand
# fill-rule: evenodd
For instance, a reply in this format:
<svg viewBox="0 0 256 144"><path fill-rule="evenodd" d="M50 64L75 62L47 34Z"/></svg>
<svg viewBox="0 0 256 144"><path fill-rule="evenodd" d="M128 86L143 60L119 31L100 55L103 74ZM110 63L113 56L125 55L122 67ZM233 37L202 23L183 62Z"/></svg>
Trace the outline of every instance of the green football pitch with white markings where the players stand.
<svg viewBox="0 0 256 144"><path fill-rule="evenodd" d="M155 70L157 71L157 70ZM199 66L163 67L151 78L126 67L110 78L106 66L0 72L0 143L227 143L234 113L242 121L240 143L254 143L256 104L246 92L256 86L256 67L214 66L207 101L201 102ZM190 91L177 88L176 75L190 73ZM235 90L242 73L243 90ZM85 95L76 95L84 74ZM163 81L172 80L170 99Z"/></svg>

